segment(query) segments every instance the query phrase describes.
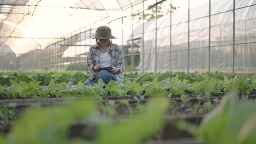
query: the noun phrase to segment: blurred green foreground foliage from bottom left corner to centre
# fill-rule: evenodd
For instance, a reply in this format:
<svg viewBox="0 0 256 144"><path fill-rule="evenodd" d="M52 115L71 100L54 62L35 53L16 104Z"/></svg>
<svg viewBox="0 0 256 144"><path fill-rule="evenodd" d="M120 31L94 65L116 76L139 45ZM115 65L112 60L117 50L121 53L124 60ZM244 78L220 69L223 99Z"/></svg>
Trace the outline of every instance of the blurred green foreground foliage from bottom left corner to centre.
<svg viewBox="0 0 256 144"><path fill-rule="evenodd" d="M100 117L95 113L96 103L82 99L67 105L30 107L7 135L0 134L0 141L4 144L139 144L162 128L162 115L167 106L163 99L152 99L144 113L115 120ZM72 123L78 118L92 121L97 127L92 140L68 137Z"/></svg>

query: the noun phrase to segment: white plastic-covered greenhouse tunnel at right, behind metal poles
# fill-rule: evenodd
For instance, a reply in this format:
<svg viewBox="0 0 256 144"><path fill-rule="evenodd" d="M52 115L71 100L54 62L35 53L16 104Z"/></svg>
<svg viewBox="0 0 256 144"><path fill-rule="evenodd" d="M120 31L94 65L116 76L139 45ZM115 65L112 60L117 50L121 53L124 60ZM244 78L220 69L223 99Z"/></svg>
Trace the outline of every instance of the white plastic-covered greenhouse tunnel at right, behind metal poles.
<svg viewBox="0 0 256 144"><path fill-rule="evenodd" d="M236 69L255 69L256 0L235 2L235 6L240 9L235 10L234 66ZM232 70L232 8L233 2L230 0L211 3L210 44L209 4L190 10L189 28L187 10L173 13L172 34L170 15L144 23L144 43L140 43L139 67L145 71L208 71L208 67L211 70ZM142 27L140 25L134 30L134 39L142 37Z"/></svg>

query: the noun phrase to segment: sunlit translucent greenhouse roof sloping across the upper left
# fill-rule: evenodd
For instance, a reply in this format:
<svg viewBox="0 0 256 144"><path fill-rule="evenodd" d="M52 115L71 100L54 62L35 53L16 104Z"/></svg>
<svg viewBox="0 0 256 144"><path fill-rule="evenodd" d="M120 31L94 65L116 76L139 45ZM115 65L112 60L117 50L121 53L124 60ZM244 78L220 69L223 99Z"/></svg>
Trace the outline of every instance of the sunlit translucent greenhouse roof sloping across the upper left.
<svg viewBox="0 0 256 144"><path fill-rule="evenodd" d="M111 20L109 11L120 15L120 10L141 1L0 0L0 48L7 46L16 54L41 49L98 21Z"/></svg>

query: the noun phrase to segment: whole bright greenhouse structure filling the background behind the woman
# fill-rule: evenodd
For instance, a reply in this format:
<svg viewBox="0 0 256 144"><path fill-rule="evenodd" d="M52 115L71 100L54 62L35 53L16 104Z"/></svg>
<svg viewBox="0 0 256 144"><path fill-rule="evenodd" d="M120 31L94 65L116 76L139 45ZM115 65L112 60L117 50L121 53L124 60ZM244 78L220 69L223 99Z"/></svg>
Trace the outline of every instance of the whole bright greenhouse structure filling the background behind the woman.
<svg viewBox="0 0 256 144"><path fill-rule="evenodd" d="M100 25L112 28L127 72L256 70L256 0L1 0L0 7L2 72L87 71Z"/></svg>

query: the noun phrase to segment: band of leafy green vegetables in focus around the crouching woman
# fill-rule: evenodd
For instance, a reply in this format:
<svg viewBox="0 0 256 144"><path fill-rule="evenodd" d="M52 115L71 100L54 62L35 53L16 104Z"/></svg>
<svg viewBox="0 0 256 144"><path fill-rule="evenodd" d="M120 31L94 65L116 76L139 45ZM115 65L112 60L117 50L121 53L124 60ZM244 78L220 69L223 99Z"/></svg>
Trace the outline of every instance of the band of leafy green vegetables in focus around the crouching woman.
<svg viewBox="0 0 256 144"><path fill-rule="evenodd" d="M90 97L125 95L200 94L204 92L251 92L256 90L256 76L223 73L127 73L124 82L110 81L107 85L99 80L92 86L83 84L89 74L22 73L0 75L0 92L8 99L49 97Z"/></svg>

